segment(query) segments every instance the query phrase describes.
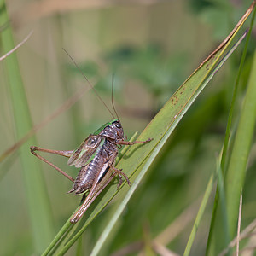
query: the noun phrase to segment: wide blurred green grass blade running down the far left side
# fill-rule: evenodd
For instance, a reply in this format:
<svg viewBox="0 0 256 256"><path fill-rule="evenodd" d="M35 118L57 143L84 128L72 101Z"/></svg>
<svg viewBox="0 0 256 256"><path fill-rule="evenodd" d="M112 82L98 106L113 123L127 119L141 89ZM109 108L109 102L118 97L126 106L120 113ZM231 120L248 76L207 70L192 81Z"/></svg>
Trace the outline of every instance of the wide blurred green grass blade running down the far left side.
<svg viewBox="0 0 256 256"><path fill-rule="evenodd" d="M9 21L4 1L0 1L0 24ZM14 49L15 44L11 28L1 32L3 52ZM26 102L26 94L20 76L16 54L9 55L3 62L6 81L8 81L9 94L14 111L15 131L17 139L23 137L32 128L32 120ZM49 199L46 195L44 177L40 172L40 165L30 154L29 146L34 144L31 139L20 148L20 169L23 171L26 187L28 211L32 223L32 236L35 243L35 251L42 252L53 236L52 215L49 207Z"/></svg>

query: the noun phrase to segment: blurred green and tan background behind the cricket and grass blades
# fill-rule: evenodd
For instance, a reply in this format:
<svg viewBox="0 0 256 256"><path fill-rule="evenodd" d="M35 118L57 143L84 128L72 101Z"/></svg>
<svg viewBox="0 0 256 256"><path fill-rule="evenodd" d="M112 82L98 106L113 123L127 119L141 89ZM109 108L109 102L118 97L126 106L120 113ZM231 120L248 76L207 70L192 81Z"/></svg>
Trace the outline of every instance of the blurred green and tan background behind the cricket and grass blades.
<svg viewBox="0 0 256 256"><path fill-rule="evenodd" d="M96 84L97 92L108 106L111 106L114 73L115 106L125 135L131 137L135 131L143 131L178 86L229 34L250 3L8 1L15 42L20 42L33 30L32 37L17 51L33 124L48 117L75 91L88 87L73 108L37 132L38 146L71 150L112 119L62 48L78 62L91 84ZM242 73L241 96L247 83L255 37L254 30ZM147 236L158 236L202 195L208 178L215 171L216 156L224 142L241 50L242 47L236 50L177 126L131 198L101 255L131 247L131 243L143 241ZM0 83L0 152L3 153L15 143L15 129L9 89L2 75ZM238 104L237 113L240 107ZM29 148L27 154L30 154ZM244 188L242 227L256 216L255 154L254 143ZM31 154L31 157L34 156ZM65 159L55 155L47 155L47 158L76 176L78 171L67 166ZM33 240L19 155L12 154L0 167L0 255L31 255ZM72 184L65 177L44 163L42 167L56 232L80 199L66 194ZM212 196L191 255L205 253L213 199ZM110 204L84 233L84 255L90 253L112 207ZM168 236L165 235L172 251L183 253L196 212L195 206L187 212L186 218L177 220ZM74 251L75 246L68 255L73 255Z"/></svg>

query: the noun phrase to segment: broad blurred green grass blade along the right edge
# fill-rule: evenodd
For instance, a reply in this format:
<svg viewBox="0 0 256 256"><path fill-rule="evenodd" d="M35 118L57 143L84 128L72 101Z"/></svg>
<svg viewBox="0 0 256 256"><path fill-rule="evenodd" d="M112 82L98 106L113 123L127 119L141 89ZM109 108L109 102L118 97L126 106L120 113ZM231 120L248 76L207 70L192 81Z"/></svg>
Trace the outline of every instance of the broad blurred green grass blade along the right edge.
<svg viewBox="0 0 256 256"><path fill-rule="evenodd" d="M256 52L253 57L253 67L248 82L247 94L241 110L234 148L230 156L230 165L225 177L227 212L229 216L230 234L236 232L241 189L246 174L248 155L251 149L253 131L256 119Z"/></svg>

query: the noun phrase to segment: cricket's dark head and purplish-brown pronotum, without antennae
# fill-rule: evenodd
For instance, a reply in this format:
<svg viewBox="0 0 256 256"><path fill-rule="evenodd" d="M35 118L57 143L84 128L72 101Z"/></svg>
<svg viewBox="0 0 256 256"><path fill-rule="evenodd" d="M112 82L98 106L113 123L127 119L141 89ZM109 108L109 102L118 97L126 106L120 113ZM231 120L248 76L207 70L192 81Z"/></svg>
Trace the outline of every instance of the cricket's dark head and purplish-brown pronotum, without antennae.
<svg viewBox="0 0 256 256"><path fill-rule="evenodd" d="M119 140L124 138L124 130L119 119L113 119L111 122L103 125L99 135L108 137L112 140ZM100 130L99 129L99 130Z"/></svg>

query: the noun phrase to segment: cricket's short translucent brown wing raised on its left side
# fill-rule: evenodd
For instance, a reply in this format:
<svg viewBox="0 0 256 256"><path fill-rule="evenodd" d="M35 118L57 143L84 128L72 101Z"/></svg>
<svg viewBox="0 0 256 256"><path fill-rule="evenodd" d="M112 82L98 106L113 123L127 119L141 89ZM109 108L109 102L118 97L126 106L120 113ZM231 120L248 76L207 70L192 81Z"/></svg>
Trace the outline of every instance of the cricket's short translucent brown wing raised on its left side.
<svg viewBox="0 0 256 256"><path fill-rule="evenodd" d="M67 165L76 166L77 168L85 166L92 155L95 154L102 140L103 137L98 135L90 135L87 137L79 148L73 151L73 154L67 161Z"/></svg>

